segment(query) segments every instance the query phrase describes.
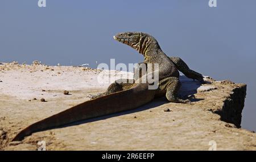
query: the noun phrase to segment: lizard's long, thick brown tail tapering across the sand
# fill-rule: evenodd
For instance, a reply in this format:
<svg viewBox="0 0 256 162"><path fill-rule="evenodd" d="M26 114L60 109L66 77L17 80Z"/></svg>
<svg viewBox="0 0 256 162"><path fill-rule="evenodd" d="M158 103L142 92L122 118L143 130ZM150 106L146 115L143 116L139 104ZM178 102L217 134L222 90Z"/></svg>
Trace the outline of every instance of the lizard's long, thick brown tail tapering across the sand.
<svg viewBox="0 0 256 162"><path fill-rule="evenodd" d="M146 84L138 84L125 91L85 101L84 103L73 106L63 112L45 118L44 120L35 122L26 127L26 129L20 131L13 141L22 140L24 137L37 131L43 131L76 121L138 108L138 106L146 104L152 99L154 99L154 91L148 90Z"/></svg>

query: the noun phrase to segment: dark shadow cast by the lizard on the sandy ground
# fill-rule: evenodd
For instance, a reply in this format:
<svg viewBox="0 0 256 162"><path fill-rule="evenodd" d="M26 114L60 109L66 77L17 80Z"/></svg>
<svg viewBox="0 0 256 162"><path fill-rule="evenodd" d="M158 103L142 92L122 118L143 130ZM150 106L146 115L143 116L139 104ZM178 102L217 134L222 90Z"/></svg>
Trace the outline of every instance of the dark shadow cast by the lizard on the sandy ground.
<svg viewBox="0 0 256 162"><path fill-rule="evenodd" d="M197 81L193 81L192 79L189 79L187 81L185 81L184 79L188 79L188 78L186 78L186 77L183 78L183 79L181 78L182 86L180 88L179 95L180 96L189 96L189 95L194 95L195 93L197 93L196 89L199 88L201 86L201 84ZM204 99L191 99L191 103L201 101L201 100L204 100ZM159 98L154 99L152 102L150 102L148 104L145 104L143 106L139 106L139 108L136 108L136 109L126 110L125 112L109 114L109 115L106 115L106 116L92 118L92 119L88 119L88 120L77 121L77 122L69 123L67 125L56 127L56 128L81 125L81 124L84 124L84 123L105 120L105 119L112 118L112 117L117 117L117 116L123 116L125 114L141 112L143 110L152 109L152 108L155 108L157 106L167 104L167 103L170 103L170 102L166 99L166 97L159 97Z"/></svg>

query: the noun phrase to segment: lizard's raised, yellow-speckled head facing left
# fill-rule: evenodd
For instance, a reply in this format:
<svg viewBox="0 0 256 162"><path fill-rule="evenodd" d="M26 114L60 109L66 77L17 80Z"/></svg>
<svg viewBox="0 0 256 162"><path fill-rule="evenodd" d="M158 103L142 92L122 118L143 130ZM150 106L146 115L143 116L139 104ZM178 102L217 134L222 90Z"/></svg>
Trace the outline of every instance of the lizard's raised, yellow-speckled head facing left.
<svg viewBox="0 0 256 162"><path fill-rule="evenodd" d="M146 54L150 45L158 45L158 42L154 39L154 37L142 32L118 33L114 36L114 39L122 42L123 44L131 46L143 55Z"/></svg>

